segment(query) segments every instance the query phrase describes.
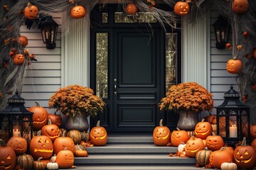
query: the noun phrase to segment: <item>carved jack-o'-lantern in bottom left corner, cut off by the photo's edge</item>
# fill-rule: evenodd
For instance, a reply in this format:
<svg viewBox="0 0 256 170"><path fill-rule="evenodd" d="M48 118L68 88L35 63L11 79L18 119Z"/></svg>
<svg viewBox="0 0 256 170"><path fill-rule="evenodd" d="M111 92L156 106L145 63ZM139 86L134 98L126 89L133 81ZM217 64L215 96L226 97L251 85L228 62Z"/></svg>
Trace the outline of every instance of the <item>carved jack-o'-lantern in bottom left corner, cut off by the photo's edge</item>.
<svg viewBox="0 0 256 170"><path fill-rule="evenodd" d="M0 147L0 169L13 170L15 168L16 154L12 147Z"/></svg>

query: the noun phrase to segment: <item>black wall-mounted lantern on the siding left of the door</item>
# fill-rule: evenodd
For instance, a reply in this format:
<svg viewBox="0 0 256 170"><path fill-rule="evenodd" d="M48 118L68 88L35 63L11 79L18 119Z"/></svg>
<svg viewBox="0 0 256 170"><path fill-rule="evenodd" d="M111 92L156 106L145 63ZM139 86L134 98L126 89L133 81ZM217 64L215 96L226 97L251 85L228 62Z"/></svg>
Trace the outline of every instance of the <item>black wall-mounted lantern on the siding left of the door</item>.
<svg viewBox="0 0 256 170"><path fill-rule="evenodd" d="M56 36L58 32L58 24L53 20L52 16L46 16L41 19L39 24L41 28L41 34L43 43L46 44L47 49L54 49L56 44Z"/></svg>

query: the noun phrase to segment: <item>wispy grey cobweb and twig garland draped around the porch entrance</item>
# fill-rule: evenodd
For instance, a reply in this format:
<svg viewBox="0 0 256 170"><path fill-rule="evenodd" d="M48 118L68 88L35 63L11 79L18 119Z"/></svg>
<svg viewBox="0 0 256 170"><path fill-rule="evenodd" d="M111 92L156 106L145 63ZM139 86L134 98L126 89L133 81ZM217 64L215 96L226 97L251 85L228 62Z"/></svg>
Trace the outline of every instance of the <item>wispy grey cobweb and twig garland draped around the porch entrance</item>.
<svg viewBox="0 0 256 170"><path fill-rule="evenodd" d="M161 0L171 8L174 8L178 0ZM185 0L181 0L185 1ZM234 0L186 0L190 5L190 12L187 16L182 16L185 23L196 23L196 20L201 16L206 15L210 6L216 6L221 15L228 18L232 30L232 54L233 57L238 58L243 63L242 72L234 77L238 77L238 85L240 88L240 96L247 96L245 103L250 106L251 122L256 124L256 59L252 57L252 50L256 47L256 1L249 1L249 8L245 13L234 13L232 4ZM246 0L242 0L246 1ZM70 11L70 8L75 4L85 6L87 13L100 0L1 0L0 1L0 93L3 96L0 98L0 111L5 108L7 99L10 98L15 91L21 91L23 80L26 76L26 68L28 62L31 60L26 56L25 62L17 66L15 65L9 52L11 48L15 47L18 52L23 53L24 47L18 45L17 42L12 41L18 38L20 27L26 22L23 17L23 9L30 2L39 9L39 13L61 13L63 11ZM107 4L107 0L103 1L103 6ZM119 0L119 5L125 8L128 0ZM174 27L173 23L181 23L181 16L177 16L174 11L164 11L157 8L157 0L134 0L139 11L151 12L161 26L169 25ZM58 6L58 8L56 8ZM68 20L72 19L71 17ZM68 21L67 21L68 22ZM150 23L149 23L150 25ZM243 35L244 32L248 35ZM242 45L242 50L238 50L237 46ZM26 47L25 47L26 48ZM8 65L4 66L4 63ZM252 88L255 87L255 88Z"/></svg>

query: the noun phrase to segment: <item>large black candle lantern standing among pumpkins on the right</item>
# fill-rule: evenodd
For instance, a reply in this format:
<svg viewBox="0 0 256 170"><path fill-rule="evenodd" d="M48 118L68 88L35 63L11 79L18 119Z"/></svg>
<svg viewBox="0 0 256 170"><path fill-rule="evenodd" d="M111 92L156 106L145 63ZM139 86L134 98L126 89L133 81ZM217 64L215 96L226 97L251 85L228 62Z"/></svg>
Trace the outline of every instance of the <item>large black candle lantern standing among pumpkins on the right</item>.
<svg viewBox="0 0 256 170"><path fill-rule="evenodd" d="M217 134L225 143L235 145L247 137L250 141L250 108L240 102L237 91L230 86L223 103L217 109Z"/></svg>

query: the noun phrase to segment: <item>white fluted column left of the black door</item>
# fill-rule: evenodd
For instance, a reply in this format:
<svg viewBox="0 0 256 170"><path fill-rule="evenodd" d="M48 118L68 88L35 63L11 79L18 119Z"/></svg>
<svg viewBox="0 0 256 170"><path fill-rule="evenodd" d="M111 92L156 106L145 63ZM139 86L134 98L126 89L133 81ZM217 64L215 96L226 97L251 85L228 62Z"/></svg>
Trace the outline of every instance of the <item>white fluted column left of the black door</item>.
<svg viewBox="0 0 256 170"><path fill-rule="evenodd" d="M61 86L90 86L90 16L62 16Z"/></svg>

